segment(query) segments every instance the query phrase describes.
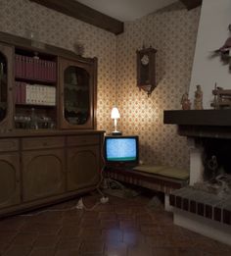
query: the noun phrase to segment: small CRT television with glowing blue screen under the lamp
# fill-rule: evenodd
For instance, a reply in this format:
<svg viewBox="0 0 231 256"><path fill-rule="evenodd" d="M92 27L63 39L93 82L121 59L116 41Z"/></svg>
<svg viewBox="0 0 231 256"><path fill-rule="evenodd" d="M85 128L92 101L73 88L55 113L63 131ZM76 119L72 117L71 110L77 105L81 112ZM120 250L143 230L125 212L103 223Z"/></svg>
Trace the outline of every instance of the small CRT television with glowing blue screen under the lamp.
<svg viewBox="0 0 231 256"><path fill-rule="evenodd" d="M105 136L104 157L110 167L135 167L139 164L138 136Z"/></svg>

